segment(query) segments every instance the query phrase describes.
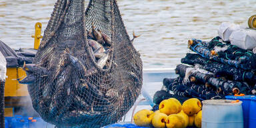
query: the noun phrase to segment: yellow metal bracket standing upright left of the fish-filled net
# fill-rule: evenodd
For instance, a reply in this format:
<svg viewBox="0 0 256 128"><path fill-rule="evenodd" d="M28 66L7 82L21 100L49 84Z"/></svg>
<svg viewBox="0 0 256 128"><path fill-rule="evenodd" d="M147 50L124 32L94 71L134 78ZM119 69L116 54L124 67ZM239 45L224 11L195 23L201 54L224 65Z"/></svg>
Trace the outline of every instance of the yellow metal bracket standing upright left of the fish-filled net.
<svg viewBox="0 0 256 128"><path fill-rule="evenodd" d="M33 37L35 39L34 41L34 49L38 49L39 45L40 45L40 39L43 38L43 36L41 35L41 29L42 29L42 23L35 23L35 35L32 35L31 37Z"/></svg>

